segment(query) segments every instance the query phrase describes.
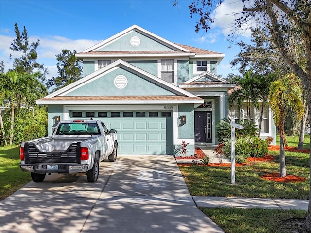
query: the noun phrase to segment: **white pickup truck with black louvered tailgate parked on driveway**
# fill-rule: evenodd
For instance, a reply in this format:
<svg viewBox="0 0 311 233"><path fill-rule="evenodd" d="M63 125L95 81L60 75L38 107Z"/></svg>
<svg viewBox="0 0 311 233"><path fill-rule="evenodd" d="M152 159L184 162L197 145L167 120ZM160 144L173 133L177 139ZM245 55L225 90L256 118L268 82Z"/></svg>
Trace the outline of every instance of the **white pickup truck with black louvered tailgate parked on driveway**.
<svg viewBox="0 0 311 233"><path fill-rule="evenodd" d="M117 158L117 131L110 131L99 120L64 120L53 135L23 142L20 168L31 172L34 182L42 182L46 173L86 173L96 182L99 162Z"/></svg>

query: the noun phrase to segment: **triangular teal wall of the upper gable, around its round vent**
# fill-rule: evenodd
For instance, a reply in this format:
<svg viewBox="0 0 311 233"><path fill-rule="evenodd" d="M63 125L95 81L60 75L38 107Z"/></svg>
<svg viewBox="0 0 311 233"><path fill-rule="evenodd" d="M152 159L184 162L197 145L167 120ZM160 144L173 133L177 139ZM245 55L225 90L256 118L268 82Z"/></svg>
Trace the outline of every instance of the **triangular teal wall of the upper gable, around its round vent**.
<svg viewBox="0 0 311 233"><path fill-rule="evenodd" d="M138 46L131 45L131 38L138 36L140 44ZM113 43L106 45L105 47L96 51L173 51L169 47L160 44L154 39L138 33L136 31L131 32L117 39Z"/></svg>

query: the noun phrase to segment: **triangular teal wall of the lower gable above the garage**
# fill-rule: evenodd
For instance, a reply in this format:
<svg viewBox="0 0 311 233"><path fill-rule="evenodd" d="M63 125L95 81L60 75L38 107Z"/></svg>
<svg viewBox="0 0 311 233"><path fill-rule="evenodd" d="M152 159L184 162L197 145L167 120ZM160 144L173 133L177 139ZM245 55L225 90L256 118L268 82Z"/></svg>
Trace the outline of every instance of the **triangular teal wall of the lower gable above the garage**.
<svg viewBox="0 0 311 233"><path fill-rule="evenodd" d="M114 79L118 75L124 75L128 84L123 89L119 89L114 85ZM71 91L66 96L161 96L161 95L175 95L171 91L151 83L143 77L118 68L104 76L86 83L83 86Z"/></svg>

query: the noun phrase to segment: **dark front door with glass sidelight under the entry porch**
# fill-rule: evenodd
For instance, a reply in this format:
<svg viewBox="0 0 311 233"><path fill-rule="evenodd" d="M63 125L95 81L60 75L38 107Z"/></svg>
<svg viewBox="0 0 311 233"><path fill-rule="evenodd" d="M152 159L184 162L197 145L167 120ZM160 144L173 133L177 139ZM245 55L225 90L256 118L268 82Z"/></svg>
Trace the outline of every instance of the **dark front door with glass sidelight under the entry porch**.
<svg viewBox="0 0 311 233"><path fill-rule="evenodd" d="M194 112L195 142L212 142L212 112Z"/></svg>

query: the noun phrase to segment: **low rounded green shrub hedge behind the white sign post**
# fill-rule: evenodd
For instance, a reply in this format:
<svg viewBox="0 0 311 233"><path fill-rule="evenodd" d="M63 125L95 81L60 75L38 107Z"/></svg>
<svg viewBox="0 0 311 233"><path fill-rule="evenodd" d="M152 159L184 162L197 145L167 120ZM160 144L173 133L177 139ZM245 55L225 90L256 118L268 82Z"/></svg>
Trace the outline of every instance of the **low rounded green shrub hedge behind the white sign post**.
<svg viewBox="0 0 311 233"><path fill-rule="evenodd" d="M223 147L223 153L231 158L231 141L225 142ZM268 153L268 142L267 140L261 139L256 136L248 136L243 138L238 138L235 142L235 154L236 162L246 161L248 157L262 158Z"/></svg>

